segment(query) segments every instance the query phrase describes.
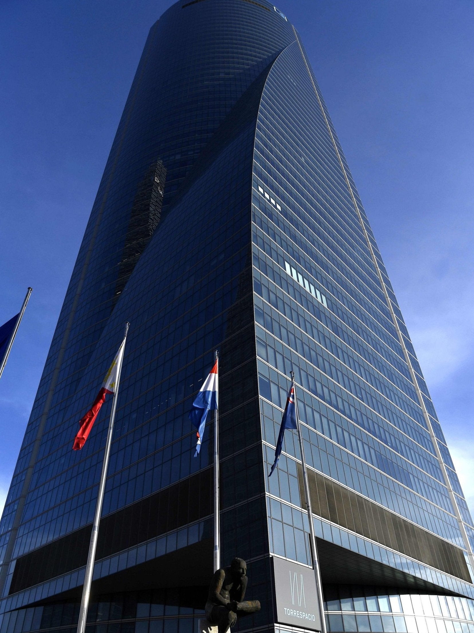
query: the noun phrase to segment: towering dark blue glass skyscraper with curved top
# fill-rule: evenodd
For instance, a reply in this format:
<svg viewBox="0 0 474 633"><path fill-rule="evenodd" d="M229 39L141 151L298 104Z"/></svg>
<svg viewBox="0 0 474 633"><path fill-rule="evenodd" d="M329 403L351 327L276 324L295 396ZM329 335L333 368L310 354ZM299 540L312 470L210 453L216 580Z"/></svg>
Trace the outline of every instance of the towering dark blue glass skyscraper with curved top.
<svg viewBox="0 0 474 633"><path fill-rule="evenodd" d="M74 630L107 406L72 441L126 320L90 633L195 630L212 433L193 458L187 412L216 348L222 563L245 558L262 603L240 629L288 629L270 559L311 564L290 431L267 477L294 370L329 630L474 631L470 513L303 44L266 0L181 0L150 30L0 523L0 633Z"/></svg>

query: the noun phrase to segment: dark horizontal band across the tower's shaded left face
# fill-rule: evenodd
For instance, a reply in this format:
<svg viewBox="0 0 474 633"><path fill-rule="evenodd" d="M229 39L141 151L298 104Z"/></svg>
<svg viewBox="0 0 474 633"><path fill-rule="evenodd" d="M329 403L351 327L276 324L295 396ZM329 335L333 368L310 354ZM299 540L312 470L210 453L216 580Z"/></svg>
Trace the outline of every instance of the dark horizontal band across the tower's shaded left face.
<svg viewBox="0 0 474 633"><path fill-rule="evenodd" d="M212 512L214 468L155 492L100 521L96 560L147 541ZM9 594L83 567L92 525L85 525L16 560Z"/></svg>

